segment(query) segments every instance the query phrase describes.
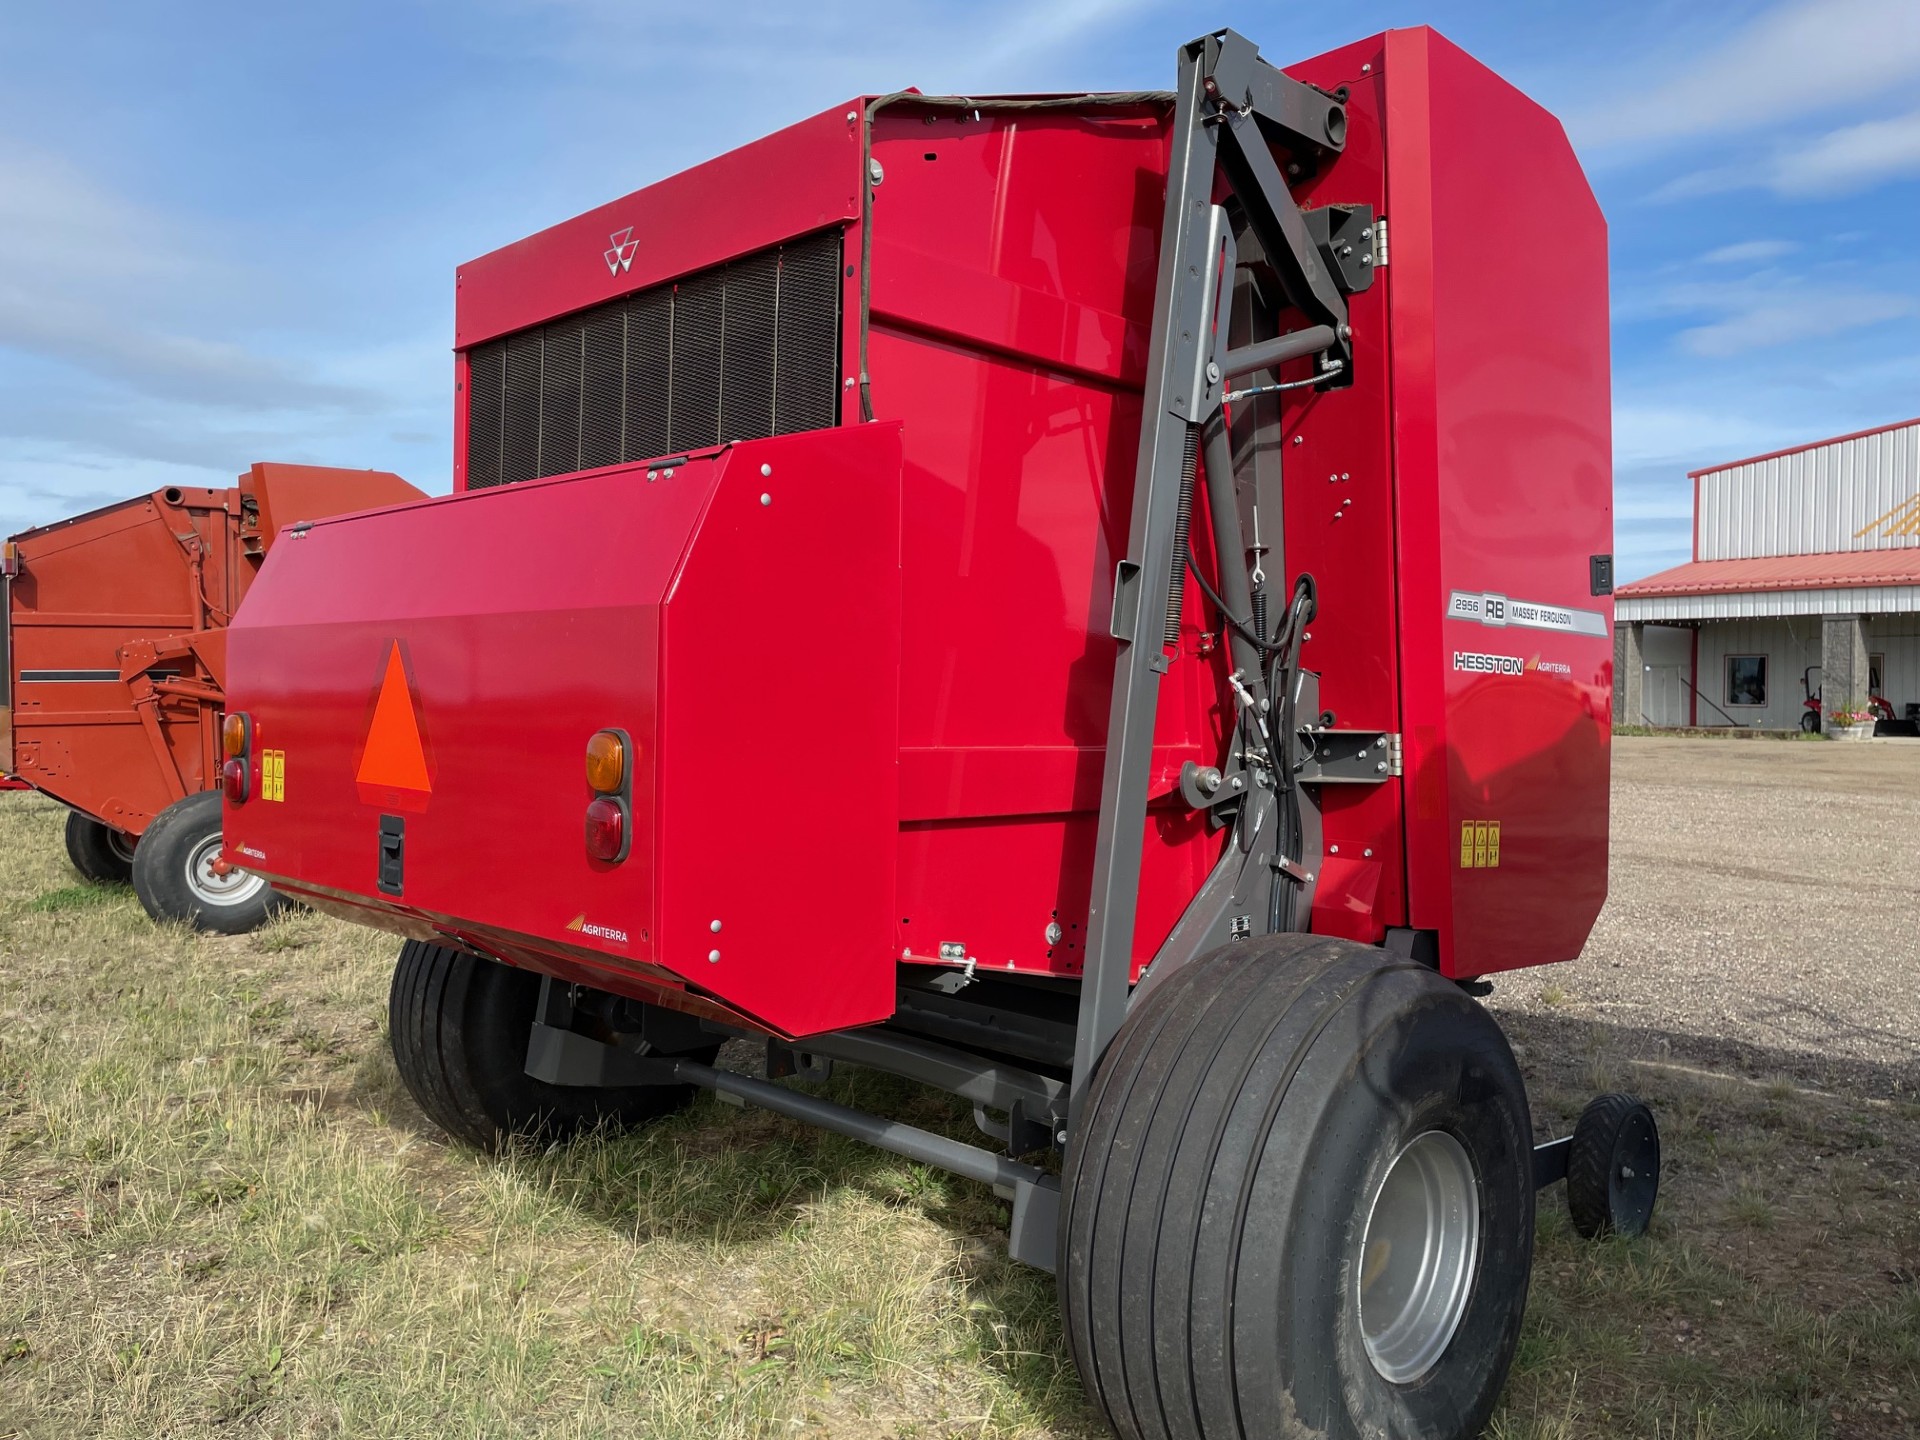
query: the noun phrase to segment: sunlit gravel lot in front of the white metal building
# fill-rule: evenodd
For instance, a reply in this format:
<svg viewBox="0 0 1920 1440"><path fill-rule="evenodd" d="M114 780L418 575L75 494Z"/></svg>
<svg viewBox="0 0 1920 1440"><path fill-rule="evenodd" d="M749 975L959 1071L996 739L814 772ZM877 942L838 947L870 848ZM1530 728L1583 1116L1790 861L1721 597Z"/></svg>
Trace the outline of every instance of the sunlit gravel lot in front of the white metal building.
<svg viewBox="0 0 1920 1440"><path fill-rule="evenodd" d="M1617 737L1607 908L1494 1008L1634 1052L1920 1092L1920 741ZM1538 1020L1526 1025L1538 1035Z"/></svg>

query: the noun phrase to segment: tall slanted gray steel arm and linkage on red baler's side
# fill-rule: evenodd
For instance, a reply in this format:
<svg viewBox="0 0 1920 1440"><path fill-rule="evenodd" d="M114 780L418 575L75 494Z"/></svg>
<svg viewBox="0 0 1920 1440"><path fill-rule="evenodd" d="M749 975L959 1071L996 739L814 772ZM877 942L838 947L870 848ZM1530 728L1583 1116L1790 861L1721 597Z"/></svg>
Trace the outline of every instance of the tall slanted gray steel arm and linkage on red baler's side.
<svg viewBox="0 0 1920 1440"><path fill-rule="evenodd" d="M1114 578L1112 636L1117 653L1087 918L1087 968L1073 1050L1075 1096L1085 1094L1085 1081L1125 1020L1133 995L1133 931L1154 714L1160 676L1167 670L1164 634L1173 576L1183 563L1175 551L1175 520L1190 478L1185 470L1188 432L1200 426L1208 449L1221 599L1229 607L1242 607L1238 614L1244 616L1248 572L1235 561L1246 547L1229 436L1219 422L1225 382L1233 372L1271 369L1283 359L1308 353L1300 346L1321 348L1319 372L1329 382L1352 374L1346 298L1315 253L1300 207L1273 161L1269 136L1302 154L1338 154L1346 144L1346 109L1336 98L1267 65L1260 60L1260 50L1233 31L1183 46L1173 90L1173 144L1133 518L1127 559L1117 563ZM1242 338L1236 349L1227 348L1235 244L1227 213L1212 204L1215 175L1221 171L1246 230L1277 273L1286 301L1313 323L1298 340ZM1271 490L1277 501L1277 484L1263 486L1256 476L1256 503L1261 490ZM1269 513L1277 516L1279 505L1273 503ZM1265 707L1263 687L1254 684L1261 676L1256 649L1240 636L1233 636L1231 643L1254 703ZM1281 707L1267 714L1277 722ZM1156 954L1148 975L1158 979L1223 941L1236 916L1258 914L1265 927L1271 887L1296 883L1281 881L1273 872L1275 808L1271 793L1250 797L1238 806L1219 866ZM1317 870L1317 856L1294 860L1296 870ZM1304 912L1306 906L1296 906L1296 914Z"/></svg>

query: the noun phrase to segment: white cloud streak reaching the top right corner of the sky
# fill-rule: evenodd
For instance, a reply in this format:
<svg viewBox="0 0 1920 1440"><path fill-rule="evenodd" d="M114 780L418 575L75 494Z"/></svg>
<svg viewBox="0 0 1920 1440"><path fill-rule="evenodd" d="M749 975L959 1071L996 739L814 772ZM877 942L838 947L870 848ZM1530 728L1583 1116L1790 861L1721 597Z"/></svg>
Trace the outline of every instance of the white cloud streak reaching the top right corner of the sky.
<svg viewBox="0 0 1920 1440"><path fill-rule="evenodd" d="M1668 79L1569 117L1582 146L1682 144L1859 106L1920 75L1912 0L1793 0Z"/></svg>

